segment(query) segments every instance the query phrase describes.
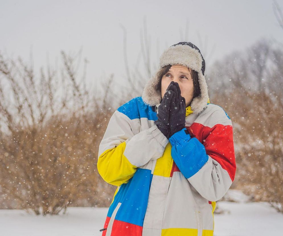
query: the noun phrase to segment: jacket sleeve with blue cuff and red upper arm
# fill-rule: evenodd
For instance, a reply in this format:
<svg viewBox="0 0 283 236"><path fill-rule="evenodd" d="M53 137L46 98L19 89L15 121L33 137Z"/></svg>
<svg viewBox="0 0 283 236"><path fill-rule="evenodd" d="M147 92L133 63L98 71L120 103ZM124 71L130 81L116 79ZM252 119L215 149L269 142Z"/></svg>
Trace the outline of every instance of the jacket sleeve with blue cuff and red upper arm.
<svg viewBox="0 0 283 236"><path fill-rule="evenodd" d="M202 144L186 128L169 138L177 167L199 194L218 201L230 188L236 172L231 119L216 122Z"/></svg>

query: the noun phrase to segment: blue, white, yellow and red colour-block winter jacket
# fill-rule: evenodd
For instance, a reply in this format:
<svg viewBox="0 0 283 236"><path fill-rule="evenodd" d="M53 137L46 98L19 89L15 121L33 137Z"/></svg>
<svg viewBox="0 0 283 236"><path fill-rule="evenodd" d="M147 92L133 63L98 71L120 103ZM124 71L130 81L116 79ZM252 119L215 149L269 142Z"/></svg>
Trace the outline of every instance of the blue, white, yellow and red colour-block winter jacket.
<svg viewBox="0 0 283 236"><path fill-rule="evenodd" d="M154 124L159 105L135 97L110 118L97 168L118 187L103 236L213 235L236 171L231 119L208 99L200 114L186 107L186 127L168 140Z"/></svg>

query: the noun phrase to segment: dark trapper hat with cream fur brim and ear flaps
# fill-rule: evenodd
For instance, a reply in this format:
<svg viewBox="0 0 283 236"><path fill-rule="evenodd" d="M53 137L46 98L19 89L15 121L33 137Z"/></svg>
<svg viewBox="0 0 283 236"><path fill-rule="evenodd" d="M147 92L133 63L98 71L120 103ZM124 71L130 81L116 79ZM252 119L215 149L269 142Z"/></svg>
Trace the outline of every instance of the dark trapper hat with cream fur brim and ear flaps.
<svg viewBox="0 0 283 236"><path fill-rule="evenodd" d="M205 61L197 46L191 42L179 42L170 46L160 56L159 69L166 65L180 64L195 70L198 73L198 81L200 84L200 95L194 97L191 102L192 111L200 113L207 105L208 89L204 78ZM161 102L161 91L157 91L155 87L159 82L157 72L146 84L143 89L142 99L144 103L150 106L157 105Z"/></svg>

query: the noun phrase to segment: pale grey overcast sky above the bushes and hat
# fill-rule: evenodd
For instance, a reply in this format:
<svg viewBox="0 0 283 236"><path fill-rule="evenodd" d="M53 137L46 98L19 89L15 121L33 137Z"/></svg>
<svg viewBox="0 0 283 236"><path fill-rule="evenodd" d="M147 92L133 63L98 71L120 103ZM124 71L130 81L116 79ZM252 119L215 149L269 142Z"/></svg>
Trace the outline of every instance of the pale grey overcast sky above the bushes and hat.
<svg viewBox="0 0 283 236"><path fill-rule="evenodd" d="M282 1L277 1L283 9ZM140 31L147 25L151 61L165 48L190 41L204 54L207 66L261 37L283 40L273 1L3 1L0 0L0 51L29 61L34 67L60 59L60 51L89 60L87 78L125 75L123 29L127 30L128 61L134 67L141 51ZM182 36L186 30L186 37ZM206 72L207 73L207 72Z"/></svg>

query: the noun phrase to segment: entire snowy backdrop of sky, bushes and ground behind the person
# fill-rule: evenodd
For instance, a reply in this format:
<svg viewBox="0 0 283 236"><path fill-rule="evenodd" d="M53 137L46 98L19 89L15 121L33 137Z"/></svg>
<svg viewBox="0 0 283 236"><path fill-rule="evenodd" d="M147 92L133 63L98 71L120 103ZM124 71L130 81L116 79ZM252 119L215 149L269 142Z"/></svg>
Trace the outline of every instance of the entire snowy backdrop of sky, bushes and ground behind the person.
<svg viewBox="0 0 283 236"><path fill-rule="evenodd" d="M0 235L101 235L109 118L181 41L200 48L210 102L233 124L236 177L214 234L282 233L281 1L0 0L0 24Z"/></svg>

